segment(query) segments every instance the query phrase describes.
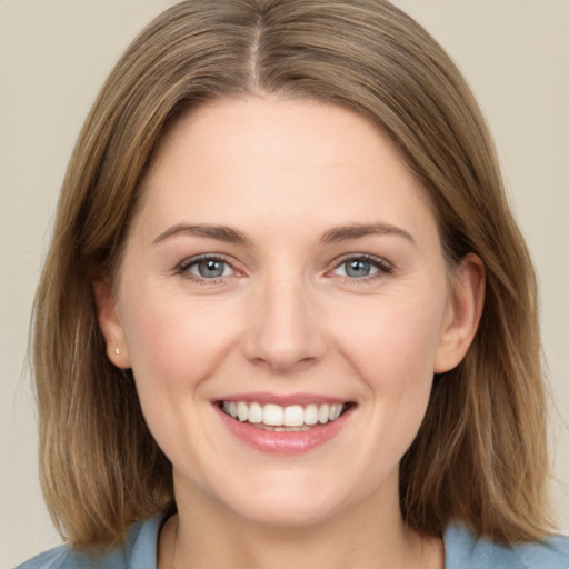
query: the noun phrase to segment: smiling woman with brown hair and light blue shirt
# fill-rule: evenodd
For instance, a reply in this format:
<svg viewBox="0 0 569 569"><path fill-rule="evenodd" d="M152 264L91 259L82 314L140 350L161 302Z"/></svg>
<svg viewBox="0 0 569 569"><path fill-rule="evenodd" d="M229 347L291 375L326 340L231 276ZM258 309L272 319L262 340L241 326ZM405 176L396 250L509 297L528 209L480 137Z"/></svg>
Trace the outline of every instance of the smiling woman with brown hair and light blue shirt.
<svg viewBox="0 0 569 569"><path fill-rule="evenodd" d="M379 0L181 2L103 87L36 305L22 567L566 567L536 286L460 74Z"/></svg>

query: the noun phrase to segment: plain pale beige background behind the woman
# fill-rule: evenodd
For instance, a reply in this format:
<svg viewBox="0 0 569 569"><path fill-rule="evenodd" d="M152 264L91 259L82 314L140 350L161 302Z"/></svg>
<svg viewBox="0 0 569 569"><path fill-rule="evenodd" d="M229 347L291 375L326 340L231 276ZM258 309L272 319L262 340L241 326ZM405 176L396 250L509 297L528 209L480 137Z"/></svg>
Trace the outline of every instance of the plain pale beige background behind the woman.
<svg viewBox="0 0 569 569"><path fill-rule="evenodd" d="M67 160L101 82L167 0L0 0L0 569L58 542L37 481L28 320ZM470 81L541 281L555 502L569 532L569 0L399 0ZM565 425L563 425L565 421Z"/></svg>

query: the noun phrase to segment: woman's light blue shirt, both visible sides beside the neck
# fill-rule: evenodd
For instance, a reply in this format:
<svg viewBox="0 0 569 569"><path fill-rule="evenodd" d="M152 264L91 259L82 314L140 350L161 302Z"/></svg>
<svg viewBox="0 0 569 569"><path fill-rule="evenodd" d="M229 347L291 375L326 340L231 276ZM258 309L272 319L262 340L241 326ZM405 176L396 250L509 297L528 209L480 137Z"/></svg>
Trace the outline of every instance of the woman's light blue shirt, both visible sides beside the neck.
<svg viewBox="0 0 569 569"><path fill-rule="evenodd" d="M19 565L16 569L156 569L160 516L134 523L126 543L97 557L61 546ZM445 569L569 569L569 538L542 543L499 546L476 539L463 526L445 531Z"/></svg>

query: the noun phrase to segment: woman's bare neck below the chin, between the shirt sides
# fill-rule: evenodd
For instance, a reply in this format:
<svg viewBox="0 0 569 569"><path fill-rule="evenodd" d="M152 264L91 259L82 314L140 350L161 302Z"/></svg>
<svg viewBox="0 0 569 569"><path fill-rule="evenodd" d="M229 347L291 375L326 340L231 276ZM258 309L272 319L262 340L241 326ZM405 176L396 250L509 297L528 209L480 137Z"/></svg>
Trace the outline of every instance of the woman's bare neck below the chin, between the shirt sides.
<svg viewBox="0 0 569 569"><path fill-rule="evenodd" d="M191 495L177 495L179 513L162 530L159 569L443 568L442 541L407 528L397 499L377 508L372 498L317 523L277 527Z"/></svg>

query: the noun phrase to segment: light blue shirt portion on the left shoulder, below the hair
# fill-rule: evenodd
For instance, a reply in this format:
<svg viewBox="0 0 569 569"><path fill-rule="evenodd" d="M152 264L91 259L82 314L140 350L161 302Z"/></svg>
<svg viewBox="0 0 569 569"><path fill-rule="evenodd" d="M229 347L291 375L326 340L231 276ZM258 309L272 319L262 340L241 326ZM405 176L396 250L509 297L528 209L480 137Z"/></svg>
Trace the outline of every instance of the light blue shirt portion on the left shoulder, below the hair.
<svg viewBox="0 0 569 569"><path fill-rule="evenodd" d="M60 546L33 557L14 569L156 569L157 538L161 517L133 523L124 543L106 550Z"/></svg>

